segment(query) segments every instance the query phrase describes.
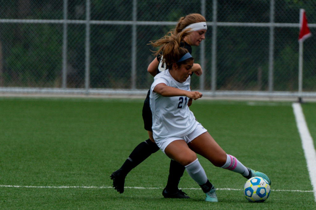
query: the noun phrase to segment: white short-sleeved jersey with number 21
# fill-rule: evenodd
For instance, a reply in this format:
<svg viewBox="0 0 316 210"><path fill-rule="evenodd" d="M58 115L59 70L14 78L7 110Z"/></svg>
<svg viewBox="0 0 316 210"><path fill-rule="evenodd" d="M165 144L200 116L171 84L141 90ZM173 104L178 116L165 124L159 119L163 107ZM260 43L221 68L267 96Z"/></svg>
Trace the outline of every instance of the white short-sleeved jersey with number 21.
<svg viewBox="0 0 316 210"><path fill-rule="evenodd" d="M159 83L190 91L190 80L191 77L188 77L185 82L177 82L170 75L169 70L162 71L154 77L149 97L155 140L174 136L182 137L196 128L196 119L187 105L189 98L186 96L164 97L153 92L155 86Z"/></svg>

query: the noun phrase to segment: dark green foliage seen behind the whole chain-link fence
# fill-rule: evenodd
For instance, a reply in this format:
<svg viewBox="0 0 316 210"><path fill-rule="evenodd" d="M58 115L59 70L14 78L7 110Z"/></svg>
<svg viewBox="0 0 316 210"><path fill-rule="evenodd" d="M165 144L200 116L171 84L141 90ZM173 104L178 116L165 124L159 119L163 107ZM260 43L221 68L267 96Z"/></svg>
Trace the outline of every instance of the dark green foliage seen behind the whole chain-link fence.
<svg viewBox="0 0 316 210"><path fill-rule="evenodd" d="M217 1L217 22L270 22L270 1ZM63 20L63 0L0 0L2 19ZM206 1L205 17L213 20L212 1ZM308 22L316 21L313 1L280 0L275 2L276 23L298 23L299 9L304 8ZM132 21L133 1L90 1L91 20ZM201 1L137 0L137 21L172 21L189 13L201 13ZM68 0L68 20L86 19L86 1ZM90 25L90 87L131 87L132 25ZM3 46L4 86L60 87L62 74L63 24L7 24L0 31ZM150 40L162 37L174 26L137 26L137 88L147 89L152 77L147 66L154 57ZM259 86L258 69L262 69L261 90L267 90L269 66L269 27L217 28L217 89L254 90ZM313 30L313 28L311 29ZM85 24L69 24L67 31L67 87L84 87L85 79ZM312 31L314 33L314 31ZM298 28L275 28L274 90L297 89ZM205 88L210 89L212 26L206 34ZM313 44L305 51L308 70L316 69ZM308 52L309 50L309 52ZM199 48L193 47L195 60ZM305 77L313 78L304 72ZM198 79L192 81L199 87ZM313 81L306 81L309 90L315 90ZM259 87L260 89L260 87Z"/></svg>

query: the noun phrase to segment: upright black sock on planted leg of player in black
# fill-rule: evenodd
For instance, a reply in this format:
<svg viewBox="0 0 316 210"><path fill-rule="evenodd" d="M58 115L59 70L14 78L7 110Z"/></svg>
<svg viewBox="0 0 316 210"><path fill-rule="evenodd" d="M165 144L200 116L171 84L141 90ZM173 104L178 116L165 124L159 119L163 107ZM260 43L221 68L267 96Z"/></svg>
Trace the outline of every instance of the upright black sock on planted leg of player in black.
<svg viewBox="0 0 316 210"><path fill-rule="evenodd" d="M169 167L169 176L167 181L166 189L167 191L177 191L180 178L183 175L185 167L182 166L180 163L171 160L170 167Z"/></svg>

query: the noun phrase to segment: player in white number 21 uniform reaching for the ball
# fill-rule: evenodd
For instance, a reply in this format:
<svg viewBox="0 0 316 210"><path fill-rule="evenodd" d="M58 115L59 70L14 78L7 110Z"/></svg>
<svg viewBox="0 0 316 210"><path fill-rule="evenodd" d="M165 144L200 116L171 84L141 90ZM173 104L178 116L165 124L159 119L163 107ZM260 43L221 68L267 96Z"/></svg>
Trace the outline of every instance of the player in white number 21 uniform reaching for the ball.
<svg viewBox="0 0 316 210"><path fill-rule="evenodd" d="M271 184L264 173L245 167L216 143L193 113L185 105L190 99L199 99L202 93L190 90L190 75L193 58L185 48L180 47L181 36L170 34L152 43L161 46L156 54L162 53L168 70L154 77L150 88L150 109L153 117L153 136L159 148L170 158L185 166L186 171L204 191L205 201L217 202L215 187L208 180L197 159L204 156L213 165L240 173L249 179L259 176Z"/></svg>

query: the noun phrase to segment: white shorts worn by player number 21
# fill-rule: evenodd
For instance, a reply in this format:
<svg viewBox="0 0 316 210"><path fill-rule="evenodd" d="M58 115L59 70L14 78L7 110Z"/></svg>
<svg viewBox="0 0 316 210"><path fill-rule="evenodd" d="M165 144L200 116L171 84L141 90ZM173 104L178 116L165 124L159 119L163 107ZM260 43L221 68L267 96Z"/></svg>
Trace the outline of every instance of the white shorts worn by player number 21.
<svg viewBox="0 0 316 210"><path fill-rule="evenodd" d="M199 135L207 132L205 128L201 125L201 123L197 124L197 127L188 135L185 136L171 136L166 139L155 139L158 147L165 153L166 147L175 140L184 140L187 144L189 144L193 139L197 138ZM165 153L166 154L166 153Z"/></svg>

